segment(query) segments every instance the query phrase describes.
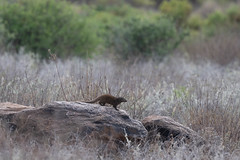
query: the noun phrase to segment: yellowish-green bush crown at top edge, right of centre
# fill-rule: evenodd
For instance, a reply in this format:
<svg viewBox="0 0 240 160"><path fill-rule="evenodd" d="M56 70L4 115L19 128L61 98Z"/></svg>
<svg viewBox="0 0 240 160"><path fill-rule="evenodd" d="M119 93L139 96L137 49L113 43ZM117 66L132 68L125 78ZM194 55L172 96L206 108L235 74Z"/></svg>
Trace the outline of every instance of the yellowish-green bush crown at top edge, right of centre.
<svg viewBox="0 0 240 160"><path fill-rule="evenodd" d="M160 11L172 17L178 25L182 25L190 15L192 6L187 0L170 0L161 4Z"/></svg>

